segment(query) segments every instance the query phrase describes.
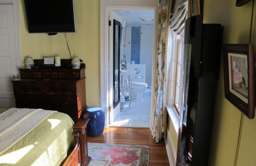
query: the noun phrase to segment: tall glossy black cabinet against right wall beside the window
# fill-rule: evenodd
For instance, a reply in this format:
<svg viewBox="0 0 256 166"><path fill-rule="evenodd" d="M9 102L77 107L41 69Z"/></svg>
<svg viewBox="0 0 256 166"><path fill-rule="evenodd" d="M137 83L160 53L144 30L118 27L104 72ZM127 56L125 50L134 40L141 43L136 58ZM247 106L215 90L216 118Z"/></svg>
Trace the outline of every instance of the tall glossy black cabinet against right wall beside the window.
<svg viewBox="0 0 256 166"><path fill-rule="evenodd" d="M185 22L185 99L180 112L176 166L206 166L215 87L219 75L222 29L203 24L203 15Z"/></svg>

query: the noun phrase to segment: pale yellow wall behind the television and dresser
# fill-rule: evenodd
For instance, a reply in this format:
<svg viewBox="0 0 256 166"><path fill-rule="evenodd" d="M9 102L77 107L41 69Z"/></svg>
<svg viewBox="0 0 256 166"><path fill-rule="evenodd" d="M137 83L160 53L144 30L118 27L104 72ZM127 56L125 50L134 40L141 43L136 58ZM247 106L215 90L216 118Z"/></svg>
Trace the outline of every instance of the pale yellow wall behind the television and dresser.
<svg viewBox="0 0 256 166"><path fill-rule="evenodd" d="M66 33L71 57L78 56L86 65L86 104L100 106L100 1L75 0L76 33ZM19 1L21 59L30 55L70 58L64 33L29 34L24 1ZM24 67L24 63L23 63Z"/></svg>

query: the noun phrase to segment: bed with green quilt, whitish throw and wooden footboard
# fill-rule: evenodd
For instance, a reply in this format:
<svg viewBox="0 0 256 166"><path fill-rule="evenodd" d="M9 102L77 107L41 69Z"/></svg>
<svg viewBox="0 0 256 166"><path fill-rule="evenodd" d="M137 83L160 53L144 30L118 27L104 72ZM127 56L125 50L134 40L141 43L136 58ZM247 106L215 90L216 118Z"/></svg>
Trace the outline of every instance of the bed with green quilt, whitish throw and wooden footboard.
<svg viewBox="0 0 256 166"><path fill-rule="evenodd" d="M86 166L86 124L43 109L0 109L0 166Z"/></svg>

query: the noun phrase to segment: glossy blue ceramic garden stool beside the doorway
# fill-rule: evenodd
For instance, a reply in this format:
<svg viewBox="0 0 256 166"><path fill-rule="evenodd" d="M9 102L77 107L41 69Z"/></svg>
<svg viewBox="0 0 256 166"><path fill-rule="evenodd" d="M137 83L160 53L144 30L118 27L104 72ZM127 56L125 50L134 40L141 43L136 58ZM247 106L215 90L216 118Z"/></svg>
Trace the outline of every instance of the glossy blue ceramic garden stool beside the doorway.
<svg viewBox="0 0 256 166"><path fill-rule="evenodd" d="M95 137L103 133L105 125L105 113L100 107L92 107L87 109L88 118L87 135Z"/></svg>

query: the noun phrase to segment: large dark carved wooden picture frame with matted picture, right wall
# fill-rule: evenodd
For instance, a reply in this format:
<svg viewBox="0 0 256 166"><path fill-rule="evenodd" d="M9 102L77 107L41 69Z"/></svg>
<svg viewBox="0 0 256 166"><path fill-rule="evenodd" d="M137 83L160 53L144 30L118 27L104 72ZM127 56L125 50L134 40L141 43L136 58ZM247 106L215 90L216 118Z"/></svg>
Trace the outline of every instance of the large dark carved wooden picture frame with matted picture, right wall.
<svg viewBox="0 0 256 166"><path fill-rule="evenodd" d="M254 118L254 51L252 44L224 44L225 98L249 119Z"/></svg>

